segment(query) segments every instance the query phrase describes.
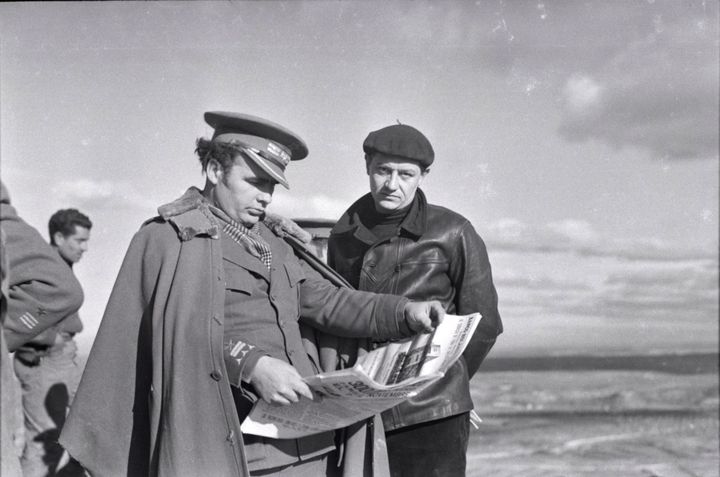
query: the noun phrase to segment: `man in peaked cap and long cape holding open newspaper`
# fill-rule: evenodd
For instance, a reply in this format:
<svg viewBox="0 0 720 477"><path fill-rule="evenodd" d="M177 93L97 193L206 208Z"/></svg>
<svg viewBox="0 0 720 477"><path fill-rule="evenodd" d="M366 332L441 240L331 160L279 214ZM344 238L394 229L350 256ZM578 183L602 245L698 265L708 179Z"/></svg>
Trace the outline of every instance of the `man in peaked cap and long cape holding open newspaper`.
<svg viewBox="0 0 720 477"><path fill-rule="evenodd" d="M61 443L92 475L357 471L339 467L332 432L266 439L240 424L257 399L313 398L302 378L320 369L304 327L399 338L444 311L339 288L296 257L283 239L294 224L277 227L266 211L307 146L262 118L205 119L214 128L197 140L205 187L160 207L133 238Z"/></svg>

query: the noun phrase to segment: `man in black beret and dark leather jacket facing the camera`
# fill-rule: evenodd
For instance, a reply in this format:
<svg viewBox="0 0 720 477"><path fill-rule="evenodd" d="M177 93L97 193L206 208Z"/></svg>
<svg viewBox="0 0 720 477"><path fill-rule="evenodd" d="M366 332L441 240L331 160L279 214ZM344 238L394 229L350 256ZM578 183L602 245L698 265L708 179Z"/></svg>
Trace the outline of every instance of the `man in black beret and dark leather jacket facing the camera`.
<svg viewBox="0 0 720 477"><path fill-rule="evenodd" d="M427 203L419 187L435 153L420 131L388 126L371 132L363 150L370 193L333 228L330 266L360 290L438 300L448 313L483 316L442 379L383 413L390 470L395 477L463 476L469 381L502 332L485 244L467 219Z"/></svg>

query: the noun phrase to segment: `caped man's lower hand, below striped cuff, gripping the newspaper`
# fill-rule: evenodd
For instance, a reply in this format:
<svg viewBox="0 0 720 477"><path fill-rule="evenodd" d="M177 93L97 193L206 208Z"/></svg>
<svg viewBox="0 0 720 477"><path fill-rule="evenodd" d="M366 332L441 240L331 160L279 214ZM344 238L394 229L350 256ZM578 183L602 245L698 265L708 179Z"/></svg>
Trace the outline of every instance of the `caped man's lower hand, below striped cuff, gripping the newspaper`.
<svg viewBox="0 0 720 477"><path fill-rule="evenodd" d="M312 391L300 374L285 361L263 356L250 374L250 384L263 401L270 404L298 402L300 396L313 398Z"/></svg>

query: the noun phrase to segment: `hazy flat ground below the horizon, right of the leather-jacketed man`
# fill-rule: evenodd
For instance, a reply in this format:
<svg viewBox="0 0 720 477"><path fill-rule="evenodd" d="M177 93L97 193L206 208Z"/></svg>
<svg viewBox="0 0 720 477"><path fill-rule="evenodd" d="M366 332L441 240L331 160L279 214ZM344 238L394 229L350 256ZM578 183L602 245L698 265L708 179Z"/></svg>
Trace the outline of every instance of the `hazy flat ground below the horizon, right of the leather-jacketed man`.
<svg viewBox="0 0 720 477"><path fill-rule="evenodd" d="M717 355L673 363L479 374L468 476L717 477Z"/></svg>

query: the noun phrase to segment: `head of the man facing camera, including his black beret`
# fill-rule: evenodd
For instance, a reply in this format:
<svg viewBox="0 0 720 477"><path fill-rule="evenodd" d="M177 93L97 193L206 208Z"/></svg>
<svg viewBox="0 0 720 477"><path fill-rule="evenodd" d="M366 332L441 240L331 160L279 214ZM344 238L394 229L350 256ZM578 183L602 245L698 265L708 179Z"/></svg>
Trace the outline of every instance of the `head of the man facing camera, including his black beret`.
<svg viewBox="0 0 720 477"><path fill-rule="evenodd" d="M395 124L371 132L363 142L375 210L406 209L435 159L430 141L417 129Z"/></svg>

